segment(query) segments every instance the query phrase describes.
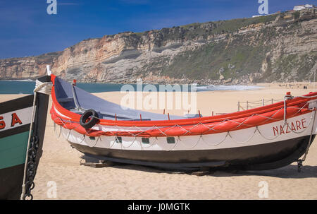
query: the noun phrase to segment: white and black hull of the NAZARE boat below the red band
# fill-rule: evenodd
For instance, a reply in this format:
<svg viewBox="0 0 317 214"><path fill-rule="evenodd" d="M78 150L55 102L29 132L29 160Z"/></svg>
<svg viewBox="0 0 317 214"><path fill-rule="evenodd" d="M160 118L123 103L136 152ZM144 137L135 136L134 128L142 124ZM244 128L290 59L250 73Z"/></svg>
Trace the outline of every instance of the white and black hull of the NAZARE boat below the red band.
<svg viewBox="0 0 317 214"><path fill-rule="evenodd" d="M288 119L289 128L282 128L284 121L275 121L228 133L180 136L172 144L164 137L149 138L149 143L144 144L139 137L122 137L118 143L114 136L92 138L64 128L61 128L61 134L86 157L97 160L170 169L271 170L289 165L304 154L316 135L313 114ZM294 128L296 124L298 129Z"/></svg>

